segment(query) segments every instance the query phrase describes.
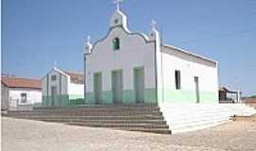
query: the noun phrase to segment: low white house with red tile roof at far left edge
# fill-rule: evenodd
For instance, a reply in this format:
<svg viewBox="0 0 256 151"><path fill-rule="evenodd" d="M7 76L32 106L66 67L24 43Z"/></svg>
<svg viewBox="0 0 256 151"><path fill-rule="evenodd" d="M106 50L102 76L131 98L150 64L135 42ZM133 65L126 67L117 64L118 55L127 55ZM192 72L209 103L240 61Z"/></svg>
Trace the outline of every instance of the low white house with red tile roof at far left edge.
<svg viewBox="0 0 256 151"><path fill-rule="evenodd" d="M41 106L41 103L40 80L1 76L1 109L32 109Z"/></svg>

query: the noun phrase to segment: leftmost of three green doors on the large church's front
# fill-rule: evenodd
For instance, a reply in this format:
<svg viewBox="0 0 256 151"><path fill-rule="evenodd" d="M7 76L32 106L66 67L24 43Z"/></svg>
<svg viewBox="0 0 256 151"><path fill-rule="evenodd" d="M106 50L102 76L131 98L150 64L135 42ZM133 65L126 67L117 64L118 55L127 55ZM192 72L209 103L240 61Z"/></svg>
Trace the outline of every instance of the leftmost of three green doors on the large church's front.
<svg viewBox="0 0 256 151"><path fill-rule="evenodd" d="M101 73L94 74L94 98L95 104L101 104L102 76Z"/></svg>

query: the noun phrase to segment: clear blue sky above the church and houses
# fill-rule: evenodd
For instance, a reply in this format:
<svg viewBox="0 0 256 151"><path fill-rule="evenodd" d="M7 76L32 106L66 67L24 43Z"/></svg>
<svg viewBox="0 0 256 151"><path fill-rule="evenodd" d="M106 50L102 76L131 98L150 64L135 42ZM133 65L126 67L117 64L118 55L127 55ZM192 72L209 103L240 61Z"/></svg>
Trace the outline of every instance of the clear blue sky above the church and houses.
<svg viewBox="0 0 256 151"><path fill-rule="evenodd" d="M82 71L83 44L105 36L113 0L2 0L2 72L42 77L54 60ZM255 0L126 0L131 30L148 33L152 19L163 42L215 59L219 83L256 94Z"/></svg>

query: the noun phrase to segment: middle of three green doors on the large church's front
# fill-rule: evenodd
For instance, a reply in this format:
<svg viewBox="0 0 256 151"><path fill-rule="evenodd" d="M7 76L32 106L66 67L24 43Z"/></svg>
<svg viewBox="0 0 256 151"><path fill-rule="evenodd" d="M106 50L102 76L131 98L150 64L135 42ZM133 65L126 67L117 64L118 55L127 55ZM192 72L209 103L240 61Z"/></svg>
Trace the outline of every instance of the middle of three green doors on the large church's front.
<svg viewBox="0 0 256 151"><path fill-rule="evenodd" d="M113 101L115 104L121 104L122 102L122 71L112 72L112 92Z"/></svg>

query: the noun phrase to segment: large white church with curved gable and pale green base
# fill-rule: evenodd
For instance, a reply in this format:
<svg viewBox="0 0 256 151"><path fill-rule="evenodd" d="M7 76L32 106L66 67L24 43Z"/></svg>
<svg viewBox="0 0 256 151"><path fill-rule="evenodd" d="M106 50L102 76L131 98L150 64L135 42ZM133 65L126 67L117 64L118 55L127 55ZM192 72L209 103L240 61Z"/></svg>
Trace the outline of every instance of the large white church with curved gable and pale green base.
<svg viewBox="0 0 256 151"><path fill-rule="evenodd" d="M85 104L218 103L218 64L163 44L155 23L149 35L132 32L119 9L104 38L88 39Z"/></svg>

